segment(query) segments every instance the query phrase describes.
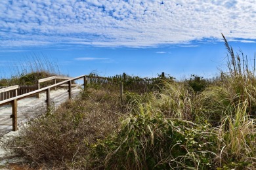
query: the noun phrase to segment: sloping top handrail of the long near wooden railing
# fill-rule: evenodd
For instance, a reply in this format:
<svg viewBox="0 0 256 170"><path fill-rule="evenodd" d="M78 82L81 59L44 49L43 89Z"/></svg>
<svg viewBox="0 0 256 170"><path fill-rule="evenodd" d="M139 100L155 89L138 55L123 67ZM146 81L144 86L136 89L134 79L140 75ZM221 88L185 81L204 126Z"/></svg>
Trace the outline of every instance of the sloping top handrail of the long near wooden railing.
<svg viewBox="0 0 256 170"><path fill-rule="evenodd" d="M14 101L14 100L20 100L20 99L24 99L24 98L26 98L26 97L29 97L30 95L35 95L35 94L37 94L37 93L41 93L41 92L43 92L43 91L46 91L46 90L48 90L49 88L55 88L55 87L58 87L58 86L60 86L60 85L62 85L62 84L65 84L65 83L67 83L67 82L70 82L70 81L73 81L73 80L78 80L78 79L80 79L80 78L83 78L83 77L85 77L86 75L82 75L82 76L77 76L77 77L75 77L75 78L70 78L70 79L68 79L68 80L64 80L64 81L62 81L62 82L58 82L57 84L53 84L53 85L51 85L51 86L47 86L47 87L45 87L45 88L41 88L41 89L39 89L39 90L35 90L35 91L33 91L33 92L30 92L30 93L26 93L26 94L23 94L23 95L18 95L18 96L16 96L16 97L12 97L12 98L10 98L10 99L6 99L6 100L3 100L3 101L0 101L0 106L2 106L2 105L7 105L7 104L9 104L9 103L11 103L12 101Z"/></svg>

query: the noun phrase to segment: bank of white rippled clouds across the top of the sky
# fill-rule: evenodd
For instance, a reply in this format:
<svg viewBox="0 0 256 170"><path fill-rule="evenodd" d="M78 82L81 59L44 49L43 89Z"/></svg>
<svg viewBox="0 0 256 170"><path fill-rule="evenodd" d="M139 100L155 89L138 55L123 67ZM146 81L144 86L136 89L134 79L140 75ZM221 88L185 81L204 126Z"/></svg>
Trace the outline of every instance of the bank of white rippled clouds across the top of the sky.
<svg viewBox="0 0 256 170"><path fill-rule="evenodd" d="M254 0L0 1L0 48L53 44L158 46L256 39Z"/></svg>

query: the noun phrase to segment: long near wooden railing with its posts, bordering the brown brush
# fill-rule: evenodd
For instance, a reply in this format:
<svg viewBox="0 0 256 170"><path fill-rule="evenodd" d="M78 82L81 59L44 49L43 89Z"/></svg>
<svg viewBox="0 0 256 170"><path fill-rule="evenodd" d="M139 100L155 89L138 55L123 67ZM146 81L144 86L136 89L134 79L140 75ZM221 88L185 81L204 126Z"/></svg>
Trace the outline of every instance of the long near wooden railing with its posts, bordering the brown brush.
<svg viewBox="0 0 256 170"><path fill-rule="evenodd" d="M79 80L83 78L83 85L86 86L87 84L87 78L85 75L82 75L82 76L77 76L75 78L70 78L68 80L64 80L62 82L58 82L56 84L53 84L51 86L47 86L45 88L41 88L39 90L35 90L33 92L30 92L30 93L26 93L26 94L23 94L23 95L18 95L16 97L12 97L10 99L6 99L4 101L0 101L0 106L3 106L3 105L9 105L11 104L12 105L12 114L6 118L12 118L12 131L16 131L18 129L18 124L17 124L17 102L20 100L20 99L24 99L26 97L31 97L33 95L37 95L39 93L42 93L42 92L46 92L46 105L47 105L47 109L49 109L50 107L50 104L51 104L51 97L50 97L50 90L51 88L56 88L58 86L61 86L62 84L66 84L68 83L68 97L69 99L72 98L72 82L74 82L75 80ZM85 88L84 88L85 90Z"/></svg>

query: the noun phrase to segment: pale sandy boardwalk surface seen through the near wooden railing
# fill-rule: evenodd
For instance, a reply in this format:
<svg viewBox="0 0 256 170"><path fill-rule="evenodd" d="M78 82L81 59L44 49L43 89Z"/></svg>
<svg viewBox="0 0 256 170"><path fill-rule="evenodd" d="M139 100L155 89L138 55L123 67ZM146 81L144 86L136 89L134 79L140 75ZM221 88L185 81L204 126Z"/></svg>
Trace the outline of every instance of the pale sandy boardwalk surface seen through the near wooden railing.
<svg viewBox="0 0 256 170"><path fill-rule="evenodd" d="M81 88L72 88L72 98L77 97ZM58 107L61 103L68 100L68 90L51 90L51 104ZM41 93L40 98L28 97L18 101L18 127L26 124L28 120L36 118L46 111L46 93ZM12 118L6 118L12 114L12 106L4 105L0 107L0 137L12 131Z"/></svg>

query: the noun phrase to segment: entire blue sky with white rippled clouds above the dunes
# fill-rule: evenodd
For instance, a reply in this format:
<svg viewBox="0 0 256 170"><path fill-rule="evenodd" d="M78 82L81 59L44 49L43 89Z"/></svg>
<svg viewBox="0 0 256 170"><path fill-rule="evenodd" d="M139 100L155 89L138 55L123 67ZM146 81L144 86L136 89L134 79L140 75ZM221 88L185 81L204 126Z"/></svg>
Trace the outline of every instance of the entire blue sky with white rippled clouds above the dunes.
<svg viewBox="0 0 256 170"><path fill-rule="evenodd" d="M212 77L221 33L253 59L255 27L256 0L1 0L0 76L47 58L70 76Z"/></svg>

